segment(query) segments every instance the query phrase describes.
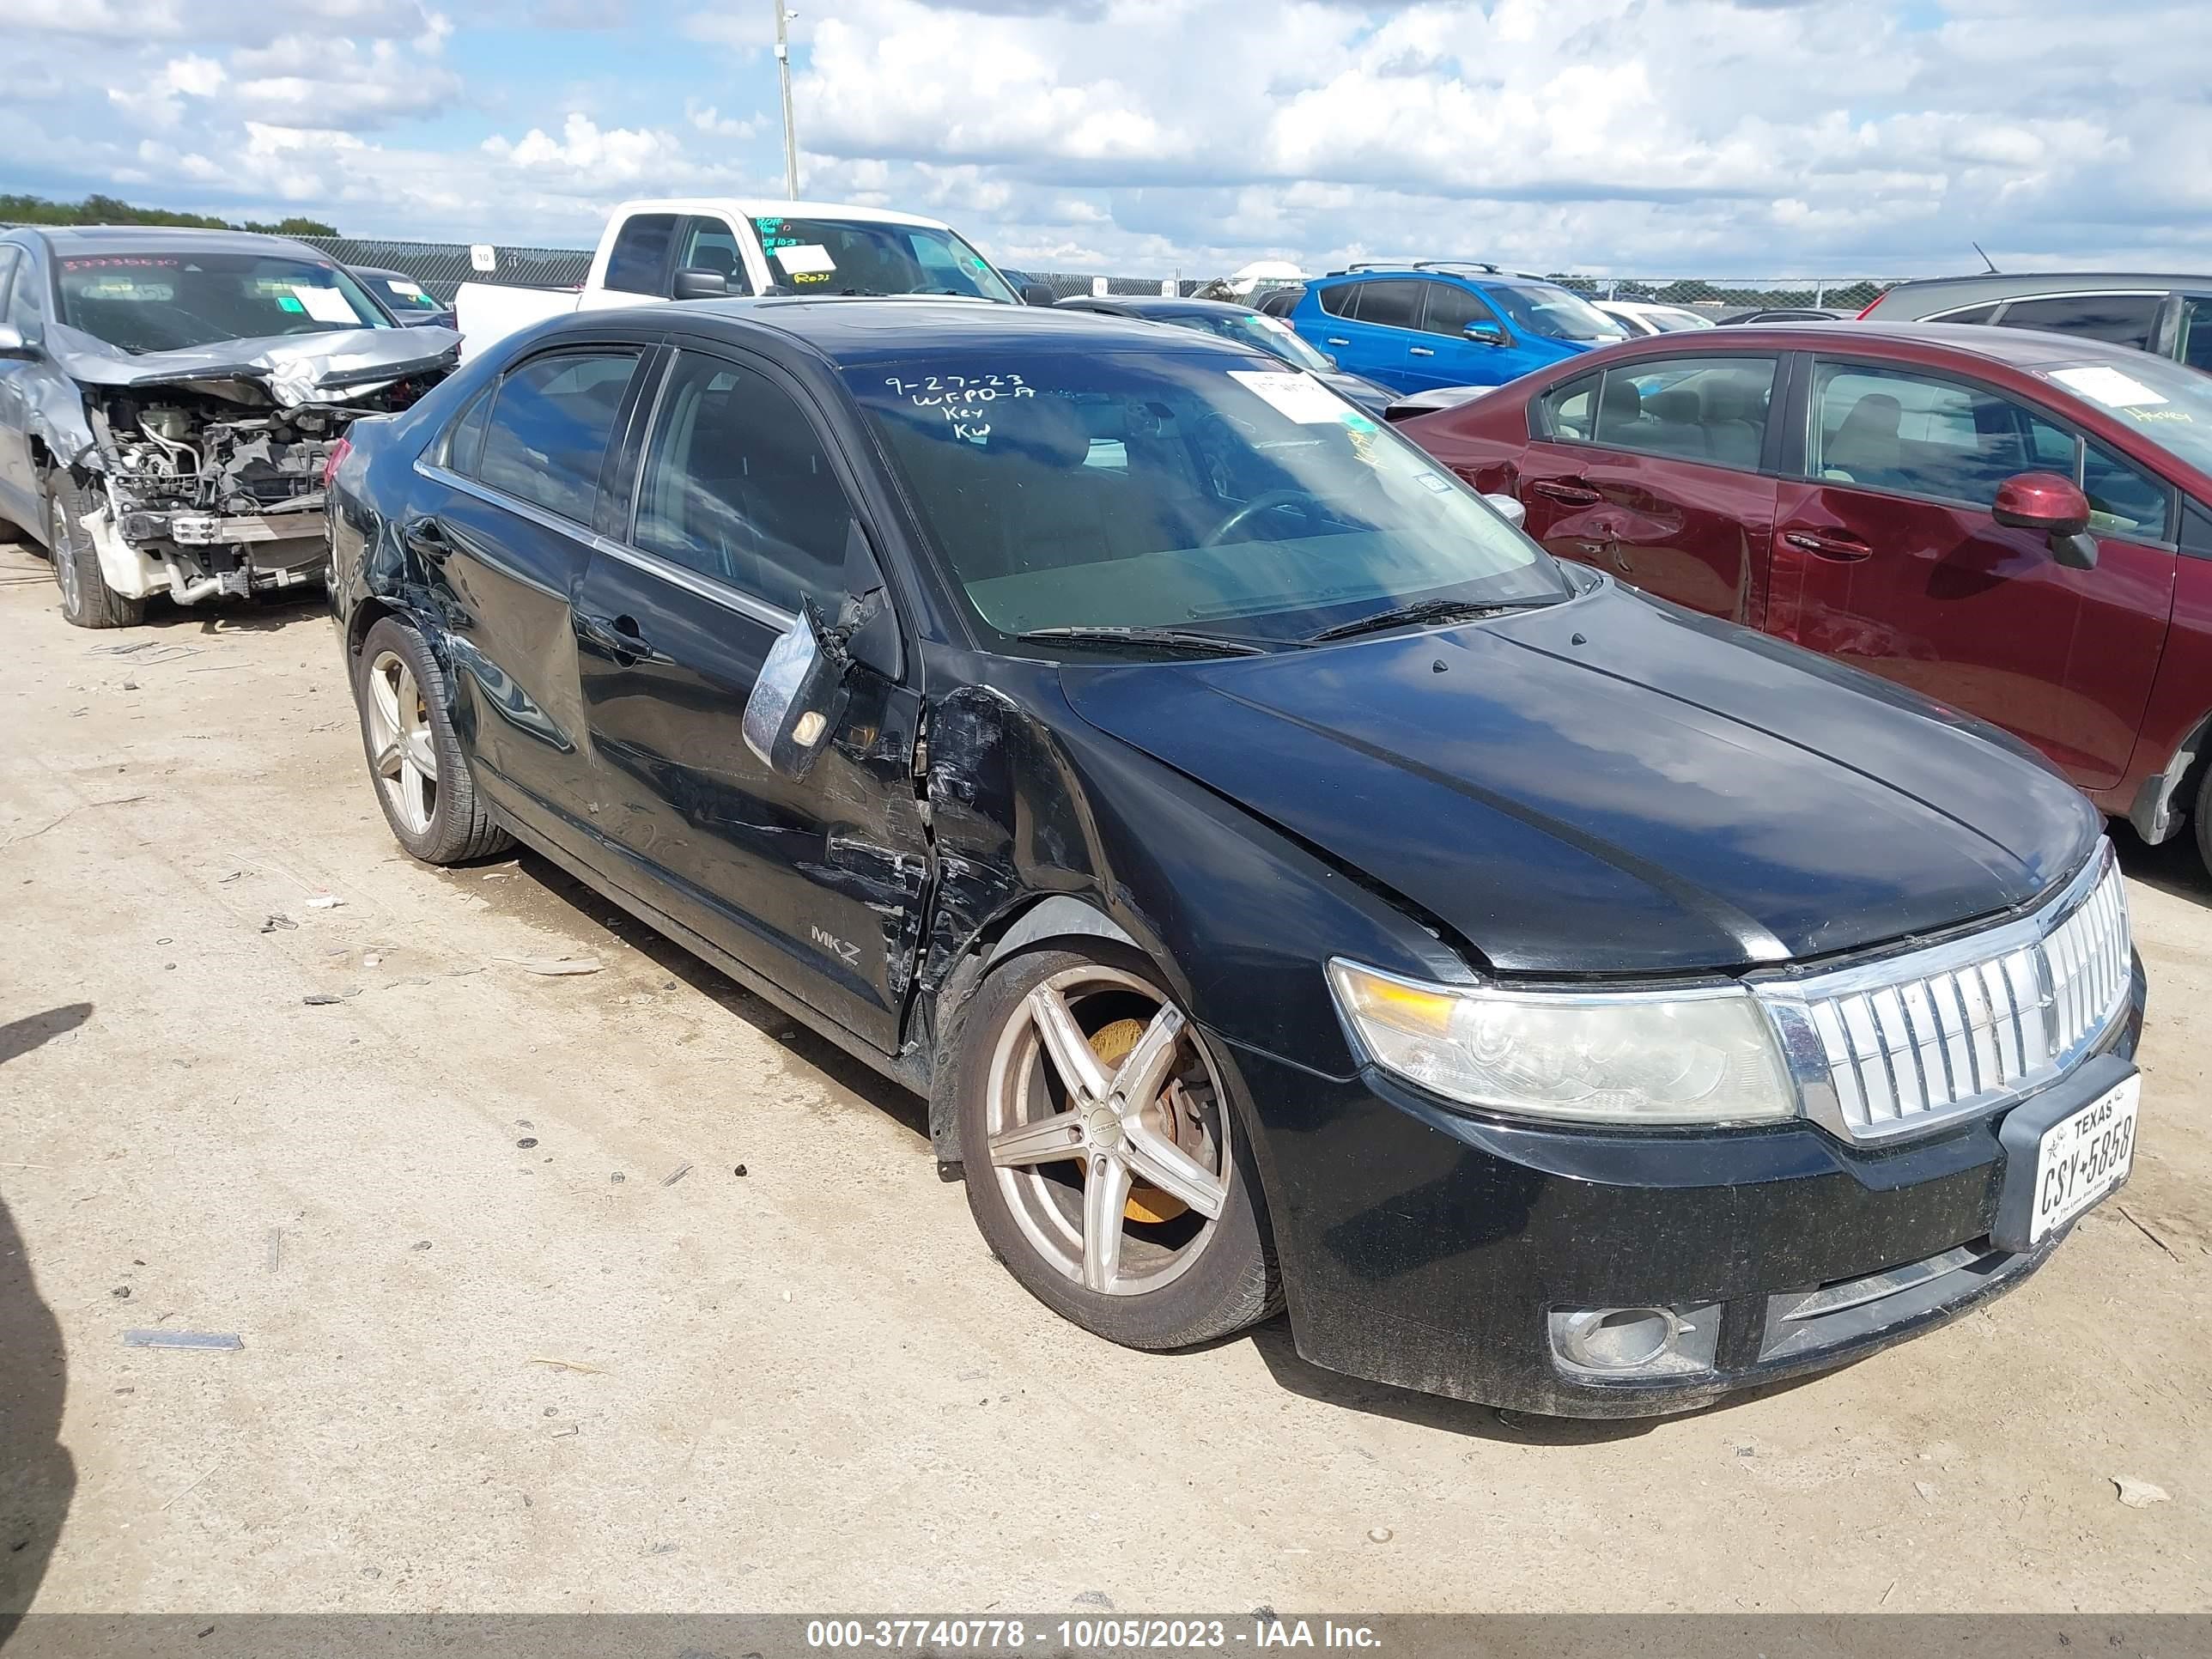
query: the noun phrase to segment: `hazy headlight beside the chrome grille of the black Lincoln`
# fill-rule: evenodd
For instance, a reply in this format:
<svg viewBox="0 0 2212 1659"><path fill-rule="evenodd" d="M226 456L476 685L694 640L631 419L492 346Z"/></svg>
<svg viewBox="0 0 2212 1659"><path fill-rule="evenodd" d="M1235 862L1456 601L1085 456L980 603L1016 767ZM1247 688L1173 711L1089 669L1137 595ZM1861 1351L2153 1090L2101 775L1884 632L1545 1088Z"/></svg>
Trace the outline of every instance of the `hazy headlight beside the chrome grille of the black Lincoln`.
<svg viewBox="0 0 2212 1659"><path fill-rule="evenodd" d="M1710 991L1502 991L1329 962L1369 1057L1469 1106L1579 1124L1770 1124L1796 1091L1765 1013Z"/></svg>

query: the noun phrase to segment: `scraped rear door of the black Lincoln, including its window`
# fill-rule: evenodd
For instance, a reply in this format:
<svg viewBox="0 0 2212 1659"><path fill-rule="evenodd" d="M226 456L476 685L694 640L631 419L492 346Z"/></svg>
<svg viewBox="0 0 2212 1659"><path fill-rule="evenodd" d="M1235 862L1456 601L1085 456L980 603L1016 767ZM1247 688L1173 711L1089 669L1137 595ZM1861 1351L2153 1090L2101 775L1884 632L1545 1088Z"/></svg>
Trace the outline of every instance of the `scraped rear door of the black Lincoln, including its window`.
<svg viewBox="0 0 2212 1659"><path fill-rule="evenodd" d="M416 465L400 526L453 648L456 728L478 787L586 858L571 599L646 352L644 341L562 341L518 361Z"/></svg>

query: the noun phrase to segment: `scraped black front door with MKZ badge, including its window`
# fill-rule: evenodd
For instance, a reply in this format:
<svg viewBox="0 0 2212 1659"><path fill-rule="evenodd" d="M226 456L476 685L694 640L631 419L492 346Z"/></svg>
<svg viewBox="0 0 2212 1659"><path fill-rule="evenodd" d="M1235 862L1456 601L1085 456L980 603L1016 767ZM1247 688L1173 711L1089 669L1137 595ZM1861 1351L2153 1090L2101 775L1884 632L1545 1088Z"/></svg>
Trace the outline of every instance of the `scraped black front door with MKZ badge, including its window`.
<svg viewBox="0 0 2212 1659"><path fill-rule="evenodd" d="M801 602L836 619L883 588L852 500L776 372L677 352L628 533L599 544L577 595L575 650L611 878L894 1051L929 872L916 699L856 668L801 781L739 734Z"/></svg>

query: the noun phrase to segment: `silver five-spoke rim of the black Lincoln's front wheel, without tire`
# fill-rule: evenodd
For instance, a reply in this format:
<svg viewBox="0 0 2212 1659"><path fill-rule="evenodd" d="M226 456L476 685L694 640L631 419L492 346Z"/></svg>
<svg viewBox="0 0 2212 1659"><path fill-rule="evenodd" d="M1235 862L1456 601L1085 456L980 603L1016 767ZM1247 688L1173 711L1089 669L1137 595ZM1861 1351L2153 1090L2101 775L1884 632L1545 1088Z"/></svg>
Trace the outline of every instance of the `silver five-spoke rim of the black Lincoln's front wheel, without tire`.
<svg viewBox="0 0 2212 1659"><path fill-rule="evenodd" d="M1221 1077L1181 1009L1119 969L1055 973L991 1055L987 1137L1015 1225L1106 1296L1161 1290L1228 1203Z"/></svg>

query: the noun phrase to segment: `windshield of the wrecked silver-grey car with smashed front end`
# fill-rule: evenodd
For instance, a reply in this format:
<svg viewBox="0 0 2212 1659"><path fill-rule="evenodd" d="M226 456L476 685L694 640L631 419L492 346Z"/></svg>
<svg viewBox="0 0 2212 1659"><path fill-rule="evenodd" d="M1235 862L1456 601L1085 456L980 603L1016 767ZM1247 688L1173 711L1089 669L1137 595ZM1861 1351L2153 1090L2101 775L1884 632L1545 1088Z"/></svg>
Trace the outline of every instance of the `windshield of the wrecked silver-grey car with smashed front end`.
<svg viewBox="0 0 2212 1659"><path fill-rule="evenodd" d="M285 254L86 254L62 263L62 321L122 352L392 327L349 272Z"/></svg>

